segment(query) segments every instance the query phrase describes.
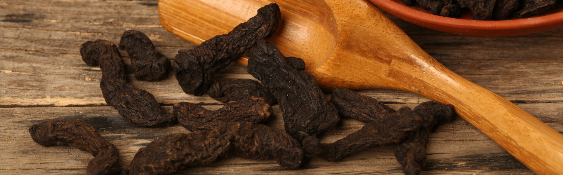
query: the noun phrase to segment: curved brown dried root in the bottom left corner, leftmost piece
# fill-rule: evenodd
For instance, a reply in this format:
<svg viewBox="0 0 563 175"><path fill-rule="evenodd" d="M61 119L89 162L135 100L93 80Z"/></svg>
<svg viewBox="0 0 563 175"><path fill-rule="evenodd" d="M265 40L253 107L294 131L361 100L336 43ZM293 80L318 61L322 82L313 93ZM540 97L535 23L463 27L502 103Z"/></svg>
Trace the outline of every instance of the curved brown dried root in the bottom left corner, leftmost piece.
<svg viewBox="0 0 563 175"><path fill-rule="evenodd" d="M86 174L116 174L120 170L119 151L115 145L82 120L53 119L33 125L29 133L39 145L70 145L88 151L94 158L88 163Z"/></svg>

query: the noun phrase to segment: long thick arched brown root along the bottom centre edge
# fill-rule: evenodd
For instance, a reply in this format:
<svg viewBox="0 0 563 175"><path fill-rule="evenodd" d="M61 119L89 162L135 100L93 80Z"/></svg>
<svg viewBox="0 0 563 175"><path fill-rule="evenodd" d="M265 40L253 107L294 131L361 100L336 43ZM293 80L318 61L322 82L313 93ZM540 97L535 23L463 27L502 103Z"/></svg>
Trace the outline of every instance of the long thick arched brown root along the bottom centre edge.
<svg viewBox="0 0 563 175"><path fill-rule="evenodd" d="M213 130L153 140L135 154L129 174L168 174L227 156L276 159L278 164L292 169L300 167L305 159L301 145L287 133L265 125L234 122Z"/></svg>

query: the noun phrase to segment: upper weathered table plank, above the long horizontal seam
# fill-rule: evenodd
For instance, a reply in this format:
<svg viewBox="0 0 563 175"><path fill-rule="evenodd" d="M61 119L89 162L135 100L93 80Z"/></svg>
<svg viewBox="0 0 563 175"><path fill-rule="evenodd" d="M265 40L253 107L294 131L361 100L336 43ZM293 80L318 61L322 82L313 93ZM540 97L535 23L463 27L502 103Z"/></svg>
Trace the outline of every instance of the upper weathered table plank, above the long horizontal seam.
<svg viewBox="0 0 563 175"><path fill-rule="evenodd" d="M195 45L164 30L156 1L3 1L1 105L103 105L97 83L99 68L85 65L79 45L86 40L118 43L128 29L144 31L157 49L172 59L178 49ZM88 6L88 11L83 7ZM17 13L16 13L17 12ZM28 15L25 15L28 14ZM127 14L127 15L125 15ZM14 17L16 15L16 17ZM17 16L19 15L19 16ZM20 19L30 22L11 22ZM413 40L446 67L514 102L563 102L563 29L505 38L444 34L392 17ZM533 38L533 39L530 39ZM124 61L129 58L122 52ZM534 58L534 59L530 59ZM131 73L131 72L129 72ZM231 65L218 75L252 78L243 66ZM177 99L203 100L182 94L173 76L161 82L129 80L153 93L161 103ZM383 102L417 103L422 96L392 90L373 90ZM399 98L387 93L400 96Z"/></svg>

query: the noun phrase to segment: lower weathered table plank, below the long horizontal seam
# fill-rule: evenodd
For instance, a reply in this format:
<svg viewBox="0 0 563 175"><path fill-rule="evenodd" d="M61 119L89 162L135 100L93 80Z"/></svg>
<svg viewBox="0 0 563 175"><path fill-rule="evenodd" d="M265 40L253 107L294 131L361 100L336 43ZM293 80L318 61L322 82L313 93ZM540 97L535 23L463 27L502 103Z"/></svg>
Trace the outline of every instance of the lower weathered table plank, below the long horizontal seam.
<svg viewBox="0 0 563 175"><path fill-rule="evenodd" d="M417 104L409 104L414 107ZM391 104L398 109L403 104ZM547 125L563 132L560 109L563 103L520 104ZM217 109L221 105L207 105ZM165 107L171 112L171 107ZM267 125L283 129L278 105L274 106L274 120ZM29 126L49 119L83 119L96 128L120 151L120 166L125 168L139 148L151 140L178 132L189 132L179 125L166 128L137 127L119 116L112 107L50 107L1 108L2 173L6 174L83 174L92 156L70 146L43 147L30 139ZM321 142L333 142L359 130L363 123L343 119L333 130L321 137ZM370 148L346 156L338 162L326 162L309 157L298 170L280 167L275 160L247 160L226 158L204 167L191 167L177 174L401 174L400 164L392 153L392 146ZM533 174L500 146L461 118L455 118L437 128L428 146L428 174ZM124 173L122 173L124 174Z"/></svg>

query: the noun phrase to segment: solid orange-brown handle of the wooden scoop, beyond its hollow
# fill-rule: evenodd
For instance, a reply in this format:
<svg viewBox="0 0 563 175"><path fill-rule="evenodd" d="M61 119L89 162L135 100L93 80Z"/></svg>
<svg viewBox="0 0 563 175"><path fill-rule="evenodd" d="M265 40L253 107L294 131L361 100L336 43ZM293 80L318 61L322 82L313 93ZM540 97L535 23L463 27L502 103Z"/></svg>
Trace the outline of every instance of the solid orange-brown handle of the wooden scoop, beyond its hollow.
<svg viewBox="0 0 563 175"><path fill-rule="evenodd" d="M563 174L561 133L441 65L369 2L325 2L337 22L338 40L331 58L311 72L323 89L399 89L452 104L532 171Z"/></svg>

